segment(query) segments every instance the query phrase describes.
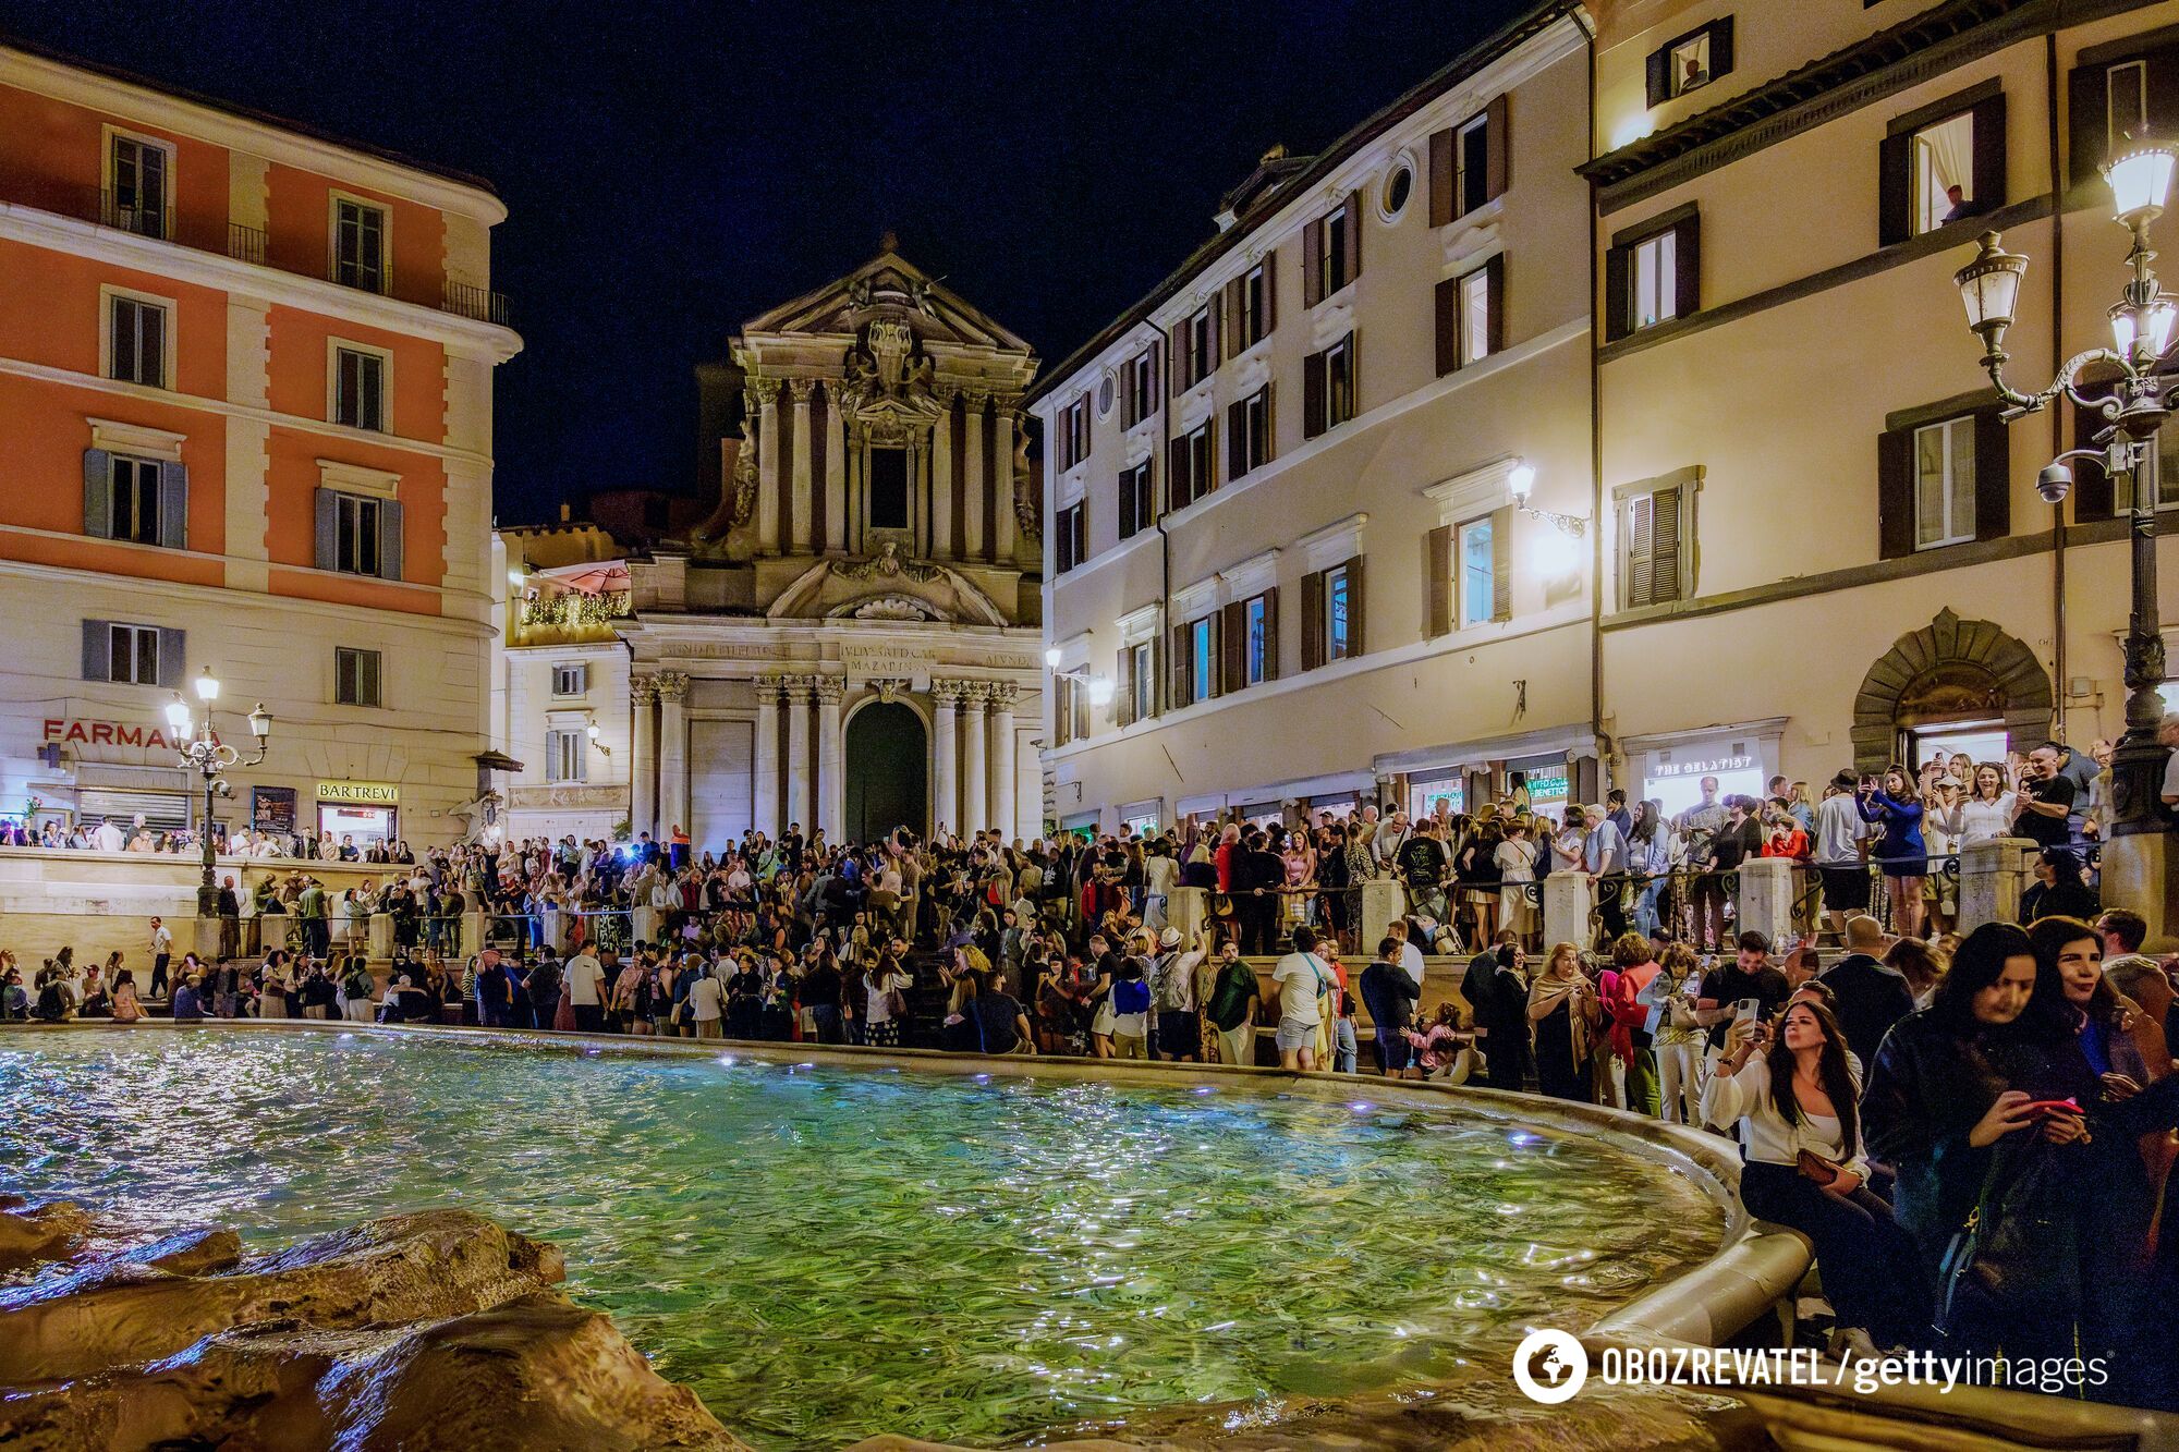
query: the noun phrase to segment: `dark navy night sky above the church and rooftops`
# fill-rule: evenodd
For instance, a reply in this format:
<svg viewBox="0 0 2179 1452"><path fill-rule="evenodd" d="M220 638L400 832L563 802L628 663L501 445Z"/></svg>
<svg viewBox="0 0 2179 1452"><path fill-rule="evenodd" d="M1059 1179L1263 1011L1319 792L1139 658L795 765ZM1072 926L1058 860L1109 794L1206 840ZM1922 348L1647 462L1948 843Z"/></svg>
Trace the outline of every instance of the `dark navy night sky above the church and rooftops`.
<svg viewBox="0 0 2179 1452"><path fill-rule="evenodd" d="M1057 364L1517 0L270 7L0 0L0 33L488 177L497 506L686 488L693 364L902 253Z"/></svg>

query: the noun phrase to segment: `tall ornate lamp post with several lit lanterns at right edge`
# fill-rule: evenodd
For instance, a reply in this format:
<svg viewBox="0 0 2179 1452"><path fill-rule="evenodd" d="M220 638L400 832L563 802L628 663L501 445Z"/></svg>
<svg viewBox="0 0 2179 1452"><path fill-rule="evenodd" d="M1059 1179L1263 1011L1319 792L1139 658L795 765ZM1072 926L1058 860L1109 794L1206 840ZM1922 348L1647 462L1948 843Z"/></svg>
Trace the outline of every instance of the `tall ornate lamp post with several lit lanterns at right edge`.
<svg viewBox="0 0 2179 1452"><path fill-rule="evenodd" d="M2072 458L2098 460L2114 484L2127 480L2133 523L2133 606L2125 648L2127 735L2111 757L2116 822L2109 831L2114 837L2166 831L2159 811L2164 748L2157 746L2157 724L2164 717L2164 700L2157 693L2164 685L2164 621L2157 610L2155 499L2135 484L2148 451L2155 447L2157 429L2170 416L2170 401L2175 401L2170 384L2157 375L2157 360L2170 344L2172 320L2179 314L2148 268L2155 259L2155 251L2148 246L2148 225L2164 211L2175 164L2179 164L2179 148L2168 142L2142 140L2103 168L2103 177L2111 185L2111 214L2133 235L2133 251L2127 253L2127 266L2133 275L2127 279L2118 305L2111 307L2111 347L2074 353L2042 392L2020 392L2005 382L2005 329L2013 323L2013 305L2020 299L2020 279L2029 270L2029 259L2003 251L1998 233L1985 231L1974 262L1952 275L1952 281L1959 283L1959 299L1968 307L1968 329L1983 340L1983 368L1989 371L1989 382L2007 403L2003 419L2037 412L2059 395L2105 419L2105 425L2094 434L2092 449L2070 449L2044 467L2035 480L2042 497L2050 504L2066 497L2072 488L2072 471L2066 460ZM2118 377L2111 382L2109 395L2087 397L2081 390L2081 373L2092 366L2116 371ZM2092 386L2101 388L2101 382Z"/></svg>

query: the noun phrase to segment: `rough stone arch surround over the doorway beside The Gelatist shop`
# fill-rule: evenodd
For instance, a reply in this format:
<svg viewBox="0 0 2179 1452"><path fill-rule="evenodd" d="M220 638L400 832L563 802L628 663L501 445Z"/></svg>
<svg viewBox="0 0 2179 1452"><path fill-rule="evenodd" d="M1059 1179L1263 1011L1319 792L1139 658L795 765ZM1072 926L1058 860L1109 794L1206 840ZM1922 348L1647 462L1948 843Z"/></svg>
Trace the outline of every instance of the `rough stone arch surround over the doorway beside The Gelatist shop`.
<svg viewBox="0 0 2179 1452"><path fill-rule="evenodd" d="M1950 608L1909 630L1861 680L1854 695L1854 767L1880 772L1902 726L1946 717L1998 717L2007 746L2031 750L2050 735L2050 674L2035 652L1987 619Z"/></svg>

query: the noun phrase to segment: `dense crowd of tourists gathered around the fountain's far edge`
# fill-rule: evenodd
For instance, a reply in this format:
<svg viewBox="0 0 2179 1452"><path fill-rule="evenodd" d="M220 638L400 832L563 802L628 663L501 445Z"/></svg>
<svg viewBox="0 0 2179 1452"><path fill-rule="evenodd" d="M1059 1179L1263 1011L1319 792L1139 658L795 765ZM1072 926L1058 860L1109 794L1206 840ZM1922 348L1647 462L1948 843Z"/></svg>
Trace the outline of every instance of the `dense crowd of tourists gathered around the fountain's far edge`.
<svg viewBox="0 0 2179 1452"><path fill-rule="evenodd" d="M2179 1158L2179 944L2098 913L2105 802L2096 757L2044 746L1841 772L1813 796L1704 781L1673 815L1615 794L1562 818L1364 807L1035 844L473 844L340 894L307 868L229 879L222 951L176 957L155 922L148 988L124 955L61 953L28 985L0 955L0 1016L126 1023L166 1001L174 1018L911 1040L1604 1103L1739 1140L1743 1199L1809 1236L1839 1343L2101 1354L2109 1382L2090 1393L2162 1406L2170 1350L2142 1347L2179 1288L2157 1234ZM1998 835L2042 850L2026 927L1959 935L1941 861ZM1809 874L1809 931L1778 944L1732 911L1728 874L1761 855ZM1582 942L1543 944L1534 883L1565 870L1597 909ZM1364 944L1375 879L1401 885L1401 911ZM1207 911L1177 913L1179 887ZM381 913L392 961L373 972ZM486 942L464 944L479 916Z"/></svg>

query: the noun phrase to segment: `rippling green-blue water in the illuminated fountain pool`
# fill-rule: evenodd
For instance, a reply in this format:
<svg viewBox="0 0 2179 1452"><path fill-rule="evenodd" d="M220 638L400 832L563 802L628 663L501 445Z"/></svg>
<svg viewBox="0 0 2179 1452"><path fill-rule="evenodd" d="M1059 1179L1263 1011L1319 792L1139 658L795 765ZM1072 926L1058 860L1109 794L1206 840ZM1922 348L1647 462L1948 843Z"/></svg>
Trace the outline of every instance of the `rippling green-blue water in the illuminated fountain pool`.
<svg viewBox="0 0 2179 1452"><path fill-rule="evenodd" d="M1456 1376L1704 1258L1684 1179L1453 1110L368 1033L0 1036L0 1186L281 1241L466 1206L765 1448Z"/></svg>

